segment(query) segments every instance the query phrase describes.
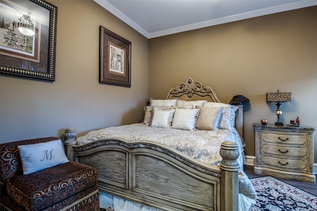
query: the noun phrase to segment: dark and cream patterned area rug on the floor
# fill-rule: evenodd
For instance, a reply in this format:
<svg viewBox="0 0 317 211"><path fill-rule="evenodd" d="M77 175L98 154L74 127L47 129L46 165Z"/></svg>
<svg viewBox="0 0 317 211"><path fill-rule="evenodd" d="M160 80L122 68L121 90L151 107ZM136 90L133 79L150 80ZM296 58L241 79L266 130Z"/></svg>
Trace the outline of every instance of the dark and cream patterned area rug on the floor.
<svg viewBox="0 0 317 211"><path fill-rule="evenodd" d="M258 195L250 211L317 211L317 197L310 193L271 176L250 180Z"/></svg>

